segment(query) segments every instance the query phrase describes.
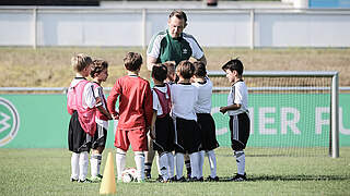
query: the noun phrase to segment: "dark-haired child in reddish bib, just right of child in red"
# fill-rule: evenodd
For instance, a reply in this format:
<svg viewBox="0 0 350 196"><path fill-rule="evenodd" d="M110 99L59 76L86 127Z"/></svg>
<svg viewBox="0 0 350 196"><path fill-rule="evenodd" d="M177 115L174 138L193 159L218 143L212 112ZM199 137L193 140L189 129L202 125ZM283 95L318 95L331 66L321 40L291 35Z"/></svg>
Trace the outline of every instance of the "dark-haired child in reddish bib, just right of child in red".
<svg viewBox="0 0 350 196"><path fill-rule="evenodd" d="M170 161L174 159L174 123L170 115L172 102L170 85L164 84L167 69L165 65L154 65L152 68L153 87L153 118L151 126L151 137L153 137L153 149L159 155L159 168L161 170L161 182L168 182L174 175L170 174ZM168 156L168 154L172 154ZM174 164L173 164L174 167Z"/></svg>

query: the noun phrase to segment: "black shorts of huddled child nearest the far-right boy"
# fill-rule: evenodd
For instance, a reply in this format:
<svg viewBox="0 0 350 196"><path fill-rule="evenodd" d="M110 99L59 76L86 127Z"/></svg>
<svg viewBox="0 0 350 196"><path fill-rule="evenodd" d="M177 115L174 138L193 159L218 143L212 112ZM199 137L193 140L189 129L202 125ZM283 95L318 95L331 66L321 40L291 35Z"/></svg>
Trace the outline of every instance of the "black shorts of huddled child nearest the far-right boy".
<svg viewBox="0 0 350 196"><path fill-rule="evenodd" d="M201 133L202 150L209 151L219 147L215 134L215 122L210 113L197 113L197 123Z"/></svg>

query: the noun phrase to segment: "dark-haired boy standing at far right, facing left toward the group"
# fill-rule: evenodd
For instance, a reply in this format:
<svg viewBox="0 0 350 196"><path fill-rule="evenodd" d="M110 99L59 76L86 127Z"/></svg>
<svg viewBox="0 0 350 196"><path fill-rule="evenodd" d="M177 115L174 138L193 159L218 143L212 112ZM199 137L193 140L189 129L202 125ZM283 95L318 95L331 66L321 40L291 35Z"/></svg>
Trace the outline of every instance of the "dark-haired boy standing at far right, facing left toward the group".
<svg viewBox="0 0 350 196"><path fill-rule="evenodd" d="M231 144L236 157L237 174L232 181L246 181L244 148L249 138L248 90L242 79L243 64L238 59L226 62L222 70L232 85L228 106L220 107L220 112L230 115Z"/></svg>

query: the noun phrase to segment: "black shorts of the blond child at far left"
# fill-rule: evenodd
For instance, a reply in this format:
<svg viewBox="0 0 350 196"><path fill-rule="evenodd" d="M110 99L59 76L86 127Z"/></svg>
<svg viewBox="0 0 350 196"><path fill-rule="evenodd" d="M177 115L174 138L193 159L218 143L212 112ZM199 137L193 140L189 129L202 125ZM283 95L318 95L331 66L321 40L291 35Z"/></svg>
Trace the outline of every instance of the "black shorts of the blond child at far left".
<svg viewBox="0 0 350 196"><path fill-rule="evenodd" d="M91 148L91 136L81 127L77 111L73 112L69 122L68 148L77 154L82 151L89 152Z"/></svg>

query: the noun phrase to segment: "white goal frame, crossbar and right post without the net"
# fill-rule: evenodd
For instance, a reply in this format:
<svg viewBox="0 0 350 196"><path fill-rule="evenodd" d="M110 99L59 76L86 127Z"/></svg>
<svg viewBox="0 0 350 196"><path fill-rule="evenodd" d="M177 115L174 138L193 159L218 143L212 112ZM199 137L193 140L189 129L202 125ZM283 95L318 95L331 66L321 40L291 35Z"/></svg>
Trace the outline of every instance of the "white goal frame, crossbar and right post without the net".
<svg viewBox="0 0 350 196"><path fill-rule="evenodd" d="M209 71L208 76L225 76L223 71ZM339 76L337 71L245 71L249 77L331 77L330 85L330 135L329 156L339 157ZM230 90L230 87L214 86L213 90ZM248 90L296 90L296 87L248 87ZM329 89L329 87L298 87L298 89Z"/></svg>

